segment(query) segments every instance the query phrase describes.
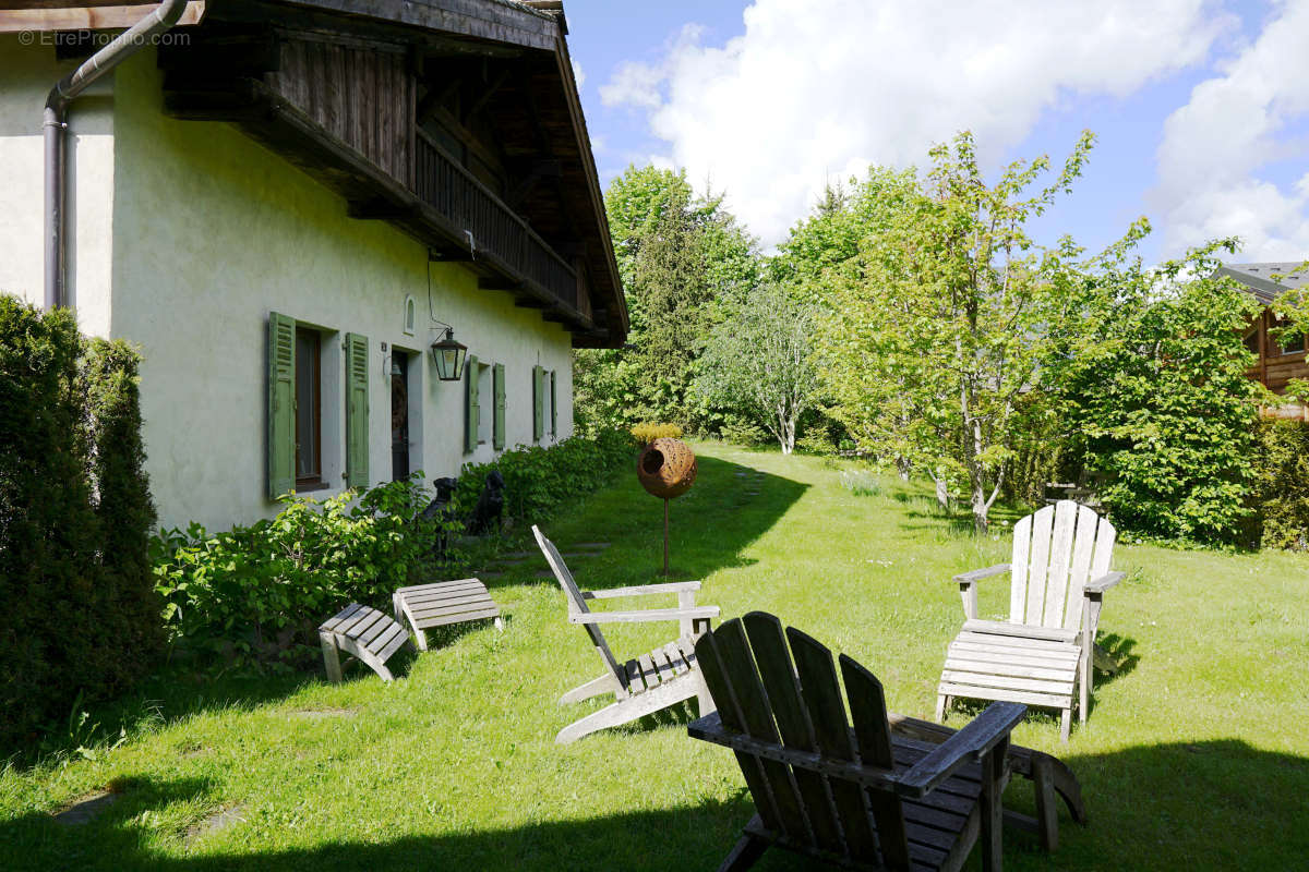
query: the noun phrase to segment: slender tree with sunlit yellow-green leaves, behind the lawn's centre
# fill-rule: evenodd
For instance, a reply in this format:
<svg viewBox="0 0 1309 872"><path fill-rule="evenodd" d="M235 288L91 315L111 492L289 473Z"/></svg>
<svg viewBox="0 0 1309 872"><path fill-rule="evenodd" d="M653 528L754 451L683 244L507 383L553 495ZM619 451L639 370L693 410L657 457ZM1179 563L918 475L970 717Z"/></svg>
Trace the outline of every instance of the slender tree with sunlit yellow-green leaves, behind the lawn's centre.
<svg viewBox="0 0 1309 872"><path fill-rule="evenodd" d="M855 269L822 280L834 414L867 447L928 469L939 492L958 475L979 532L1063 314L1026 224L1069 190L1092 141L1084 133L1054 182L1031 192L1047 158L1013 162L988 186L973 136L958 135L931 150L925 178L885 190Z"/></svg>

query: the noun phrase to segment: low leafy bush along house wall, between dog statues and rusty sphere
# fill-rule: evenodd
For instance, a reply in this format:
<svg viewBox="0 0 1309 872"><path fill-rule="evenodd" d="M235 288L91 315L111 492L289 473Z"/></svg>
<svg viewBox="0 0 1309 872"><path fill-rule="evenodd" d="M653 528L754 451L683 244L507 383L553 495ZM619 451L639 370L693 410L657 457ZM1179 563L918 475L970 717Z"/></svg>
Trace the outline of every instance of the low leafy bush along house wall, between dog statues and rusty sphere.
<svg viewBox="0 0 1309 872"><path fill-rule="evenodd" d="M615 469L632 461L635 448L631 434L623 430L605 430L594 438L573 435L550 448L513 448L490 463L465 464L454 505L465 515L471 512L486 477L499 469L505 515L533 522L609 482Z"/></svg>

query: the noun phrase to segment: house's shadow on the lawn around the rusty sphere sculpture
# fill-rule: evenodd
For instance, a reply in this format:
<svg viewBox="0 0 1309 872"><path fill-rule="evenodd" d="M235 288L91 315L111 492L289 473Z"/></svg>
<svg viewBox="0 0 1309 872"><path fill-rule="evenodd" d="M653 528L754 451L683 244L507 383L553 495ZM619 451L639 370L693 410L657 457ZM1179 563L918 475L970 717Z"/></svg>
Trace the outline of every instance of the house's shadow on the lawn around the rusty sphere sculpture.
<svg viewBox="0 0 1309 872"><path fill-rule="evenodd" d="M742 552L771 529L809 489L808 484L719 458L700 456L695 485L669 506L670 574L662 575L664 501L645 493L635 476L593 494L573 516L541 524L583 588L702 579L749 566ZM581 543L609 543L603 552L575 554ZM530 557L488 587L534 578L551 584L534 541ZM572 554L572 556L569 556ZM539 573L539 575L538 575Z"/></svg>

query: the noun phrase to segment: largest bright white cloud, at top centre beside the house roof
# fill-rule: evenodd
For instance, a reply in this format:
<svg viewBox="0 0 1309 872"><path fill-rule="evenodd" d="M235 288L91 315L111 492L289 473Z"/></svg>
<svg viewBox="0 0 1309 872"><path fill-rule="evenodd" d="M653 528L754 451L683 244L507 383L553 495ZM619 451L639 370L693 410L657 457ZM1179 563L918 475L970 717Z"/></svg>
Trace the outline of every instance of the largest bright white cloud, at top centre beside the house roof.
<svg viewBox="0 0 1309 872"><path fill-rule="evenodd" d="M673 159L774 243L833 176L922 162L963 128L994 159L1068 93L1128 94L1203 60L1232 21L1207 0L757 0L744 35L716 47L683 29L600 94L648 112Z"/></svg>

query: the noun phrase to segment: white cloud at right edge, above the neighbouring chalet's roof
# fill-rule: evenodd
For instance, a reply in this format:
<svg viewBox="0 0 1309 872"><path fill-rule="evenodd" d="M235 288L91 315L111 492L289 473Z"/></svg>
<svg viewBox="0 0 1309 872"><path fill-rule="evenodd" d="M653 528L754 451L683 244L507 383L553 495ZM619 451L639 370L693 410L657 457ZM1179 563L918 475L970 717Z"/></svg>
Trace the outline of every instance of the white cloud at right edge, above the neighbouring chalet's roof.
<svg viewBox="0 0 1309 872"><path fill-rule="evenodd" d="M1279 135L1309 120L1306 34L1309 4L1280 7L1258 39L1168 118L1152 201L1169 254L1240 235L1242 260L1309 255L1309 175L1291 186L1258 175L1289 157Z"/></svg>

